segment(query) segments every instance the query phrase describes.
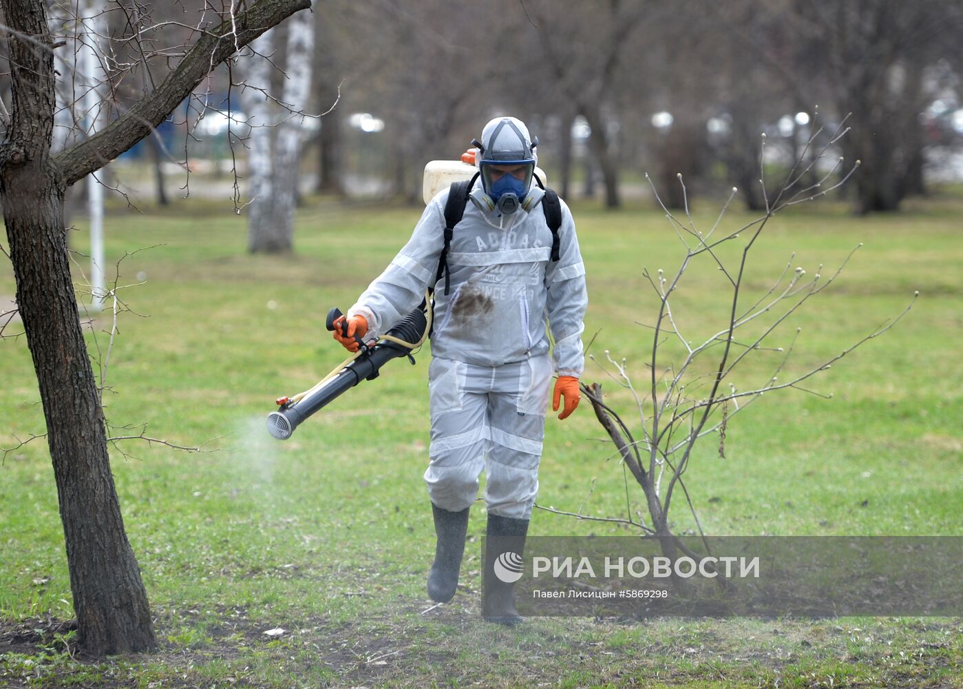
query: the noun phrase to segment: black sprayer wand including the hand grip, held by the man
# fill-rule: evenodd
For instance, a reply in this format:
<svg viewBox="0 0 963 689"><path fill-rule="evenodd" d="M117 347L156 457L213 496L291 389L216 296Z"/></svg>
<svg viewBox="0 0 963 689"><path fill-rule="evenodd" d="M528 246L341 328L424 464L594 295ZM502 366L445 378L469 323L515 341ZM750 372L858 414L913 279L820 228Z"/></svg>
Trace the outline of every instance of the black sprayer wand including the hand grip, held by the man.
<svg viewBox="0 0 963 689"><path fill-rule="evenodd" d="M407 357L414 364L415 359L411 352L425 343L431 328L430 300L426 299L425 304L429 305L427 309L422 306L414 309L377 340L364 342L354 335L358 342L357 352L338 364L311 389L294 397L281 397L277 400L277 411L268 414L268 433L278 440L291 437L304 419L325 407L335 397L361 381L375 380L378 369L386 361ZM334 331L334 321L340 317L341 309L338 307L329 310L325 328ZM342 323L342 333L348 336L347 320Z"/></svg>

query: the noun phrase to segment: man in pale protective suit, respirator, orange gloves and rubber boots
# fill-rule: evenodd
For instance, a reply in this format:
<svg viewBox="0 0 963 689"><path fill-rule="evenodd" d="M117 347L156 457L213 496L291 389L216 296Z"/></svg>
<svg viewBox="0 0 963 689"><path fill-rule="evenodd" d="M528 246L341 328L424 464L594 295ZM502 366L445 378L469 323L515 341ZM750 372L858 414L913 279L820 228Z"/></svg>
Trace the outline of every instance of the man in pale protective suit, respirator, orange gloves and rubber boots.
<svg viewBox="0 0 963 689"><path fill-rule="evenodd" d="M563 399L563 419L579 404L585 362L586 270L568 207L560 202L555 233L540 208L545 191L534 180L537 143L519 119L489 121L481 142L473 141L479 174L448 251L450 189L431 199L408 243L342 317L347 337L340 321L334 330L335 339L356 351L355 335L367 340L388 331L438 280L425 472L437 536L429 596L447 602L455 595L468 511L483 467L488 523L482 615L508 625L521 622L513 583L495 576L492 563L508 550L519 557L522 552L553 374L553 410ZM439 261L447 271L444 280L438 279ZM551 357L548 331L555 341Z"/></svg>

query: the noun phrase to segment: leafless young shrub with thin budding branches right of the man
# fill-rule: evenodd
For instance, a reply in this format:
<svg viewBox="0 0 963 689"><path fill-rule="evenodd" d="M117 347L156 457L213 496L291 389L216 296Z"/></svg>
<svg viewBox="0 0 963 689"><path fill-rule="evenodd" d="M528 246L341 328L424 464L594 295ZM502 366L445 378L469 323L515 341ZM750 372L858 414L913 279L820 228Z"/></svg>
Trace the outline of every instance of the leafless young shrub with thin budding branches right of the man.
<svg viewBox="0 0 963 689"><path fill-rule="evenodd" d="M897 318L859 339L839 355L828 358L815 367L791 373L787 369L787 362L794 352L796 336L792 336L788 346L772 346L773 338L778 336L774 333L780 326L785 326L800 307L818 296L839 277L848 257L832 275L826 278L823 277L821 265L812 276L809 276L801 267L794 269L793 256L791 256L786 267L772 280L771 286L765 293L754 295L755 298L747 297L745 294L747 291L745 285L749 281L748 256L766 229L768 221L788 206L817 199L830 193L842 185L859 167L860 162L856 161L848 172L845 172L843 171L844 161L839 159L815 185L805 181L811 168L817 164L817 161L823 159L830 146L839 143L846 131L843 125L840 125L840 128L828 137L821 150L813 156L808 155L808 150L802 151L799 161L788 172L773 198L766 195L764 174L760 183L764 190L765 213L722 236L717 236L716 232L722 224L729 202L738 193L736 188L732 189L716 224L706 231L696 227L690 216L688 204L685 205L685 217L675 216L663 204L663 210L672 230L685 247L685 254L674 275L666 274L662 269L656 275L643 270L643 275L651 284L657 300L654 323L638 323L640 327L650 330L653 338L651 358L645 364L648 369L647 380L643 386L637 387L625 359L619 361L612 358L609 350L606 350L605 360L601 362L603 370L612 378L612 381L629 392L634 401L635 412L638 414L637 428L640 430L634 433L622 416L606 404L600 384L582 385L599 423L612 438L615 454L621 459L622 464L628 467L641 488L649 518L646 520L642 517L641 511L633 514L628 504L628 484L626 484L625 517L586 517L576 514L577 517L628 523L659 539L667 557L674 558L679 549L690 557L697 557L690 548L676 538L668 526L668 513L672 500L681 492L689 504L700 536L704 539L701 524L684 480L690 468L696 443L701 438L715 435L719 438L719 453L724 453L724 438L728 423L734 416L750 404L762 399L767 393L796 389L826 396L812 390L809 380L828 370L833 363L846 357L856 347L888 331L912 307L911 303ZM819 133L819 131L814 133L809 142L810 145L816 141ZM763 148L765 148L765 135L763 136ZM803 160L810 162L803 164L801 162ZM837 178L836 175L840 172L843 173ZM831 181L834 178L837 178L835 183ZM685 194L685 185L681 176L678 184ZM732 252L728 247L737 243L742 245L742 250L736 252L738 258L733 260L727 257L727 253ZM851 256L852 253L850 252L849 255ZM698 260L708 262L716 268L719 279L726 285L728 291L724 323L721 328L710 332L708 336L695 336L693 333L695 324L687 322L684 314L673 310L675 292L682 284L687 271ZM744 388L737 386L735 373L741 370L741 364L747 358L760 355L776 358L772 364L771 375L765 380L750 383ZM708 544L706 548L708 550Z"/></svg>

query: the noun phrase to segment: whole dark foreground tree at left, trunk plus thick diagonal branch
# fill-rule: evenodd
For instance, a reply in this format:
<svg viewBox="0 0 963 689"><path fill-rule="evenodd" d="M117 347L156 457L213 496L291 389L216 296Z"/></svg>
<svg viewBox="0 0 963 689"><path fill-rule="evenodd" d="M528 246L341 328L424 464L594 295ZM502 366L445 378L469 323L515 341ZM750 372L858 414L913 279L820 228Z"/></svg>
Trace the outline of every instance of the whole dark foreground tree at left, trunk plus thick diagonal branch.
<svg viewBox="0 0 963 689"><path fill-rule="evenodd" d="M118 3L120 4L120 3ZM0 109L0 204L16 302L37 371L64 525L78 639L91 654L156 644L141 572L120 516L107 434L70 278L62 206L69 185L134 146L227 60L309 0L233 3L189 27L190 44L157 87L107 126L60 153L51 150L56 111L54 50L44 0L0 3L7 25L11 100ZM160 30L161 27L155 27ZM9 115L8 115L9 112Z"/></svg>

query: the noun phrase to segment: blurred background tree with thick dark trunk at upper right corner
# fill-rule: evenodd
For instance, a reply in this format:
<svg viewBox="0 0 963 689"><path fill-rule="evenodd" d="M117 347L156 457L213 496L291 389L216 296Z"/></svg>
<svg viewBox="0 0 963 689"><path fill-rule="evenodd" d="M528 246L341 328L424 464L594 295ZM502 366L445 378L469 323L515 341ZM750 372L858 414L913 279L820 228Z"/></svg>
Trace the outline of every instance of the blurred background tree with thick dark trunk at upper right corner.
<svg viewBox="0 0 963 689"><path fill-rule="evenodd" d="M725 7L702 2L734 53L753 56L795 108L824 104L827 115L851 114L859 131L842 142L866 165L855 178L858 213L896 210L922 189L920 114L924 68L958 53L958 2L792 0Z"/></svg>

